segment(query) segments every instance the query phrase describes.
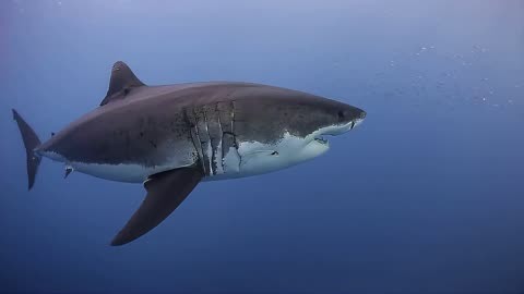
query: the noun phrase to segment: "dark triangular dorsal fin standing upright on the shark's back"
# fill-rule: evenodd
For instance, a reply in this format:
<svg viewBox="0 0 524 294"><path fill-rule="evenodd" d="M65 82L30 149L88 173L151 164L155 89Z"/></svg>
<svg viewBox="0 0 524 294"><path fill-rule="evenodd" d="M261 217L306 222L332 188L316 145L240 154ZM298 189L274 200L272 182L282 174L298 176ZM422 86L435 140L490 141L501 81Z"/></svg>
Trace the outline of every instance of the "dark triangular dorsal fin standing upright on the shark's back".
<svg viewBox="0 0 524 294"><path fill-rule="evenodd" d="M141 86L145 86L145 84L134 75L128 64L123 61L117 61L112 65L109 89L104 100L102 100L100 106L122 99L132 88Z"/></svg>

